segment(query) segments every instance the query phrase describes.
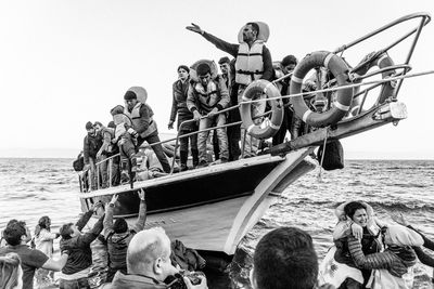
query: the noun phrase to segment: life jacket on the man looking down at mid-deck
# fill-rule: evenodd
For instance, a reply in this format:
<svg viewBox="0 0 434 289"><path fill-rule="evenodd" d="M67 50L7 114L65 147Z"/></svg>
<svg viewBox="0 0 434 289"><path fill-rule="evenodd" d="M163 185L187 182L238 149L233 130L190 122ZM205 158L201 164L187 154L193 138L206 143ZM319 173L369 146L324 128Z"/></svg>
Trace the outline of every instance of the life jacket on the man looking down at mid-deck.
<svg viewBox="0 0 434 289"><path fill-rule="evenodd" d="M218 86L218 78L212 79L206 88L201 82L193 83L194 93L197 95L200 104L199 110L201 114L208 114L220 102L220 88Z"/></svg>

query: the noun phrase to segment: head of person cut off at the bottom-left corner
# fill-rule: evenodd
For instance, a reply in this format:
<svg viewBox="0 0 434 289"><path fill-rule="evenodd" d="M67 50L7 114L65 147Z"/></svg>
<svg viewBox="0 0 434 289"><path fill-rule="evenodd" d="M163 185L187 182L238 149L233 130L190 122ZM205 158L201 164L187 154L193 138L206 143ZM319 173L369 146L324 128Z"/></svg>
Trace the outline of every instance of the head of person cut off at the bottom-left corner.
<svg viewBox="0 0 434 289"><path fill-rule="evenodd" d="M23 288L23 270L21 268L21 259L16 253L0 257L0 288Z"/></svg>

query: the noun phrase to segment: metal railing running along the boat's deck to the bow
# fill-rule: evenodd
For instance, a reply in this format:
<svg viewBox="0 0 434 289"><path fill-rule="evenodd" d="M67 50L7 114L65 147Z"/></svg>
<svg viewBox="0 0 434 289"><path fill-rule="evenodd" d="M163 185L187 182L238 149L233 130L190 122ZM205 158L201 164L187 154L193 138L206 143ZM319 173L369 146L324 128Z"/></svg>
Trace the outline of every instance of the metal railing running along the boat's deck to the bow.
<svg viewBox="0 0 434 289"><path fill-rule="evenodd" d="M375 52L375 56L379 56L379 55L381 55L383 53L386 53L388 50L391 50L392 48L396 47L398 43L403 42L404 40L409 38L411 35L414 35L414 38L412 39L412 42L411 42L410 48L409 48L409 51L407 53L406 60L405 60L405 62L403 64L392 65L392 66L388 66L388 67L380 68L380 69L376 69L375 71L372 71L372 73L369 73L369 74L365 74L365 75L361 75L361 76L357 75L357 71L361 67L368 65L369 62L372 61L373 57L371 57L370 60L366 60L365 62L359 63L356 67L350 69L349 77L350 77L350 80L352 80L353 83L349 83L348 86L337 87L336 83L333 83L334 80L331 80L328 83L322 83L322 86L321 86L322 89L315 90L315 91L311 91L311 92L302 92L302 93L297 93L297 94L282 95L282 96L278 96L278 97L267 97L267 98L252 100L252 101L248 101L248 103L272 101L273 98L276 98L276 100L277 98L279 98L279 100L291 98L291 97L296 97L296 96L305 96L306 97L307 95L312 95L312 94L316 94L316 93L331 93L331 92L334 92L334 91L337 91L337 90L346 89L348 87L352 87L352 88L355 88L355 89L359 89L362 86L370 86L368 88L365 88L362 90L357 91L355 93L355 95L354 95L354 100L356 100L358 97L361 97L361 100L359 101L358 109L355 111L355 114L353 114L352 116L348 116L348 117L349 118L350 117L358 117L363 111L363 105L365 105L365 102L366 102L366 98L367 98L369 92L372 91L373 89L380 87L380 86L383 86L386 82L392 82L392 81L395 81L397 83L396 83L396 86L394 88L394 93L392 95L392 100L390 100L390 101L396 100L396 96L397 96L397 94L398 94L398 92L400 90L400 87L401 87L403 81L404 81L405 78L423 75L423 74L419 74L419 75L414 74L413 76L409 76L407 74L411 70L411 66L409 65L409 62L410 62L411 56L413 54L413 51L414 51L416 44L417 44L417 42L419 40L420 34L421 34L423 27L431 21L431 15L430 14L427 14L427 13L414 13L414 14L410 14L410 15L400 17L400 18L398 18L398 19L396 19L394 22L391 22L387 25L384 25L383 27L380 27L379 29L376 29L376 30L374 30L374 31L372 31L370 34L367 34L363 37L360 37L360 38L358 38L358 39L356 39L356 40L354 40L354 41L352 41L352 42L349 42L347 44L341 45L335 51L333 51L333 53L340 54L340 56L343 56L343 53L346 50L348 50L349 48L352 48L352 47L354 47L354 45L356 45L356 44L358 44L358 43L360 43L360 42L362 42L362 41L365 41L365 40L367 40L367 39L369 39L371 37L374 37L375 35L378 35L378 34L380 34L380 32L382 32L384 30L387 30L387 29L390 29L390 28L392 28L392 27L394 27L394 26L396 26L396 25L398 25L400 23L408 22L408 21L414 19L414 18L420 18L420 22L413 29L411 29L410 31L408 31L407 34L405 34L404 36L401 36L400 38L398 38L396 41L392 42L387 47L385 47L385 48L379 50L378 52ZM395 70L400 70L400 71L396 73ZM395 71L395 73L392 76L386 77L386 78L384 78L382 80L368 81L368 82L361 83L361 80L368 79L370 77L373 77L375 75L380 75L380 74L383 74L383 73L386 73L386 71ZM273 83L277 83L277 82L279 82L279 81L281 81L281 80L283 80L283 79L285 79L288 77L291 77L291 74L290 75L285 75L285 76L277 79L277 80L275 80ZM380 96L381 95L379 94L379 96L378 96L378 98L376 98L376 101L375 101L373 106L379 105ZM238 109L240 107L240 105L241 104L238 104L238 105L228 107L226 109L221 109L218 113L216 113L215 115L217 115L217 114L226 114L226 113L228 113L228 111L230 111L232 109ZM330 108L330 105L331 105L331 101L329 98L329 108ZM264 117L264 116L266 116L266 115L268 115L270 113L271 111L266 111L265 114L261 114L261 115L256 116L256 117L257 118ZM202 116L201 119L206 118L206 117L208 117L208 116ZM183 128L184 126L187 126L187 124L189 124L191 122L194 122L194 121L197 121L197 120L192 119L192 120L183 121L179 126L178 133L177 133L176 137L150 144L150 146L154 146L154 145L157 145L157 144L164 144L164 143L167 143L167 142L175 141L175 155L174 155L174 159L173 159L173 162L171 162L170 173L174 173L176 152L178 149L179 140L180 139L189 137L191 135L199 134L201 132L212 131L212 130L219 129L219 128L228 128L228 127L238 126L238 124L242 123L242 121L237 121L237 122L226 123L224 126L217 126L217 127L207 128L207 129L204 129L204 130L197 130L197 131L194 131L194 132L190 132L190 133L186 133L186 134L180 135L181 128ZM244 132L243 137L245 137L245 133L246 132ZM243 142L243 143L245 143L245 142ZM242 147L241 156L243 155L243 152L244 152L244 147ZM97 189L100 188L100 183L101 183L100 182L101 181L100 180L100 175L101 175L100 171L101 171L101 166L104 162L108 162L108 163L106 163L107 165L107 172L108 172L108 175L107 175L108 176L108 181L107 181L108 184L107 185L112 186L112 178L113 178L113 173L114 173L112 167L113 167L114 158L116 158L116 157L119 157L119 154L111 156L111 157L107 157L107 158L97 162L95 163L95 167L97 167L95 172L92 172L91 170L89 170L89 171L82 173L82 176L88 178L88 184L89 184L88 188L89 189L92 189L91 188L91 184L92 184L91 181L92 181L92 178L94 178L94 175L92 175L92 173L97 174ZM81 192L85 192L85 187L86 187L85 182L81 182L81 180L80 180L80 184L81 184L80 185L81 186L80 187Z"/></svg>

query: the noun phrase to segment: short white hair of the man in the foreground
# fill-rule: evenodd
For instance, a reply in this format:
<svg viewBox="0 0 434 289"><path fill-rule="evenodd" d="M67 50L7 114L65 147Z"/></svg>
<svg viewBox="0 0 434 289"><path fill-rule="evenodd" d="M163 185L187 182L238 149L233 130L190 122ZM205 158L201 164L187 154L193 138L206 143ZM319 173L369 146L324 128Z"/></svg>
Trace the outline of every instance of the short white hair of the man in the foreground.
<svg viewBox="0 0 434 289"><path fill-rule="evenodd" d="M165 252L164 242L168 241L169 252ZM166 248L167 249L167 248ZM170 240L162 227L152 227L137 233L127 251L128 274L143 272L153 262L167 254L170 258Z"/></svg>

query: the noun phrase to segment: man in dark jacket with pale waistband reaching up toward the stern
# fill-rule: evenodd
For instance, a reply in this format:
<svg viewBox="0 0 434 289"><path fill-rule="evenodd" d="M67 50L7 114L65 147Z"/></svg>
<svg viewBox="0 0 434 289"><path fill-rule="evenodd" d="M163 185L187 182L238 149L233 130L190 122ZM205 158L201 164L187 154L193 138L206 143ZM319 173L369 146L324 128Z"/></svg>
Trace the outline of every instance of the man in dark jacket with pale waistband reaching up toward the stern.
<svg viewBox="0 0 434 289"><path fill-rule="evenodd" d="M60 234L62 236L60 241L61 251L66 250L69 252L66 264L60 274L61 289L90 288L88 281L88 274L92 265L92 250L90 249L90 244L97 239L103 229L104 214L93 225L92 229L85 234L81 233L81 229L88 223L93 212L100 209L101 206L101 202L95 202L75 225L73 223L67 223L60 228ZM102 211L102 209L100 211Z"/></svg>

